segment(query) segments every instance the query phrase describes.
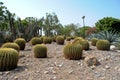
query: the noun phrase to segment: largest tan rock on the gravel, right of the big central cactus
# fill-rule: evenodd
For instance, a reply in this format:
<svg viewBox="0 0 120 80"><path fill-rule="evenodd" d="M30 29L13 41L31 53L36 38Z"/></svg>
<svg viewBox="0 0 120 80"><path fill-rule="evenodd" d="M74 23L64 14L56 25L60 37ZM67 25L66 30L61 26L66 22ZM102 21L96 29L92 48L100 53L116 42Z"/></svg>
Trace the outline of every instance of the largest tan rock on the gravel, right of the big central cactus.
<svg viewBox="0 0 120 80"><path fill-rule="evenodd" d="M92 55L87 56L85 58L85 62L86 62L86 64L87 64L88 67L89 66L93 66L93 65L95 66L95 65L99 64L97 58L95 56L92 56Z"/></svg>

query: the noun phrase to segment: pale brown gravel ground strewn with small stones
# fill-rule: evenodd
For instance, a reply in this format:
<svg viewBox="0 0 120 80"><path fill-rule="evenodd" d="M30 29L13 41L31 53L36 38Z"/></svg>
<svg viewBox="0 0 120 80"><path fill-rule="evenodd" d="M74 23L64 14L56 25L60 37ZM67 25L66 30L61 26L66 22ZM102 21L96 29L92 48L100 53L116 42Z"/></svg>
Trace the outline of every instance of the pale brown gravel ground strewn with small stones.
<svg viewBox="0 0 120 80"><path fill-rule="evenodd" d="M100 51L90 46L83 57L94 55L100 65L88 67L81 60L67 60L63 45L46 44L48 58L34 58L32 46L20 51L18 67L0 72L0 80L120 80L120 51Z"/></svg>

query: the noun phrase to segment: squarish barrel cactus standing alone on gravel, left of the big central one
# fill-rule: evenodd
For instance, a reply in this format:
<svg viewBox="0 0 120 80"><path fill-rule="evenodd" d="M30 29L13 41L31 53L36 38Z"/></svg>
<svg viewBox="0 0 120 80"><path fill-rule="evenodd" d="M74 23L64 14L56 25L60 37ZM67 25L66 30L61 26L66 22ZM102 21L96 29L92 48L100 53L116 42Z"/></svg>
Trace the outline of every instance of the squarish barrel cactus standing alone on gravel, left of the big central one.
<svg viewBox="0 0 120 80"><path fill-rule="evenodd" d="M35 58L46 58L47 57L47 47L42 44L37 44L33 47Z"/></svg>

